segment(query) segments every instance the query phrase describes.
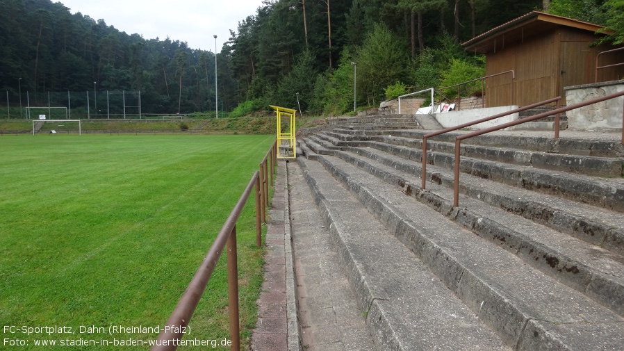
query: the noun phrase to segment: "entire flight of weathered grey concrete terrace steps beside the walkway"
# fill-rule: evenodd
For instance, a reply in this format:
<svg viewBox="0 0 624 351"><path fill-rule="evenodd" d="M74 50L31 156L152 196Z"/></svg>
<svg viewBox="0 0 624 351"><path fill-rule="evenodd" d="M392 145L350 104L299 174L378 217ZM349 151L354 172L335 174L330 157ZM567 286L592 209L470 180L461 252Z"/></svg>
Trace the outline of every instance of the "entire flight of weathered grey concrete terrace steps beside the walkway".
<svg viewBox="0 0 624 351"><path fill-rule="evenodd" d="M345 121L341 121L345 122ZM619 142L334 123L297 158L380 350L624 350ZM470 142L470 144L468 144Z"/></svg>

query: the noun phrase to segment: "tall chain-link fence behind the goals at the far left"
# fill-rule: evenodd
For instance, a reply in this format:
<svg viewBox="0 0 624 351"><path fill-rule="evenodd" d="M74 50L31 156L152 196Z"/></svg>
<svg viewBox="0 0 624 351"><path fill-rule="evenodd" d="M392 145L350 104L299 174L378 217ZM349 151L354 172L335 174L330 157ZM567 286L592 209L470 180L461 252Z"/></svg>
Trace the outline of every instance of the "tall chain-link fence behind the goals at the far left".
<svg viewBox="0 0 624 351"><path fill-rule="evenodd" d="M142 119L140 91L9 92L0 119Z"/></svg>

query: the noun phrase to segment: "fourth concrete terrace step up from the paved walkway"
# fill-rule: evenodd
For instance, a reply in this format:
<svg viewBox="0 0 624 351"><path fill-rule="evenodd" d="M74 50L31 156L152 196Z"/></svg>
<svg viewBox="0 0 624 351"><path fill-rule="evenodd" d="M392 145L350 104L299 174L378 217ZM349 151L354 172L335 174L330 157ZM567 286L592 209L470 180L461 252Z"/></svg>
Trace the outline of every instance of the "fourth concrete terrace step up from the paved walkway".
<svg viewBox="0 0 624 351"><path fill-rule="evenodd" d="M395 178L388 181L399 184L405 193L416 193L420 188L420 163L410 162L377 149L349 148L346 151L348 153L332 154L372 174L378 174L379 170L390 172ZM450 189L453 186L454 174L451 170L429 165L427 180L434 182L428 185L428 188L440 184ZM509 187L503 183L470 175L462 175L460 180L459 190L463 195L479 199L509 213L521 215L611 252L624 254L624 222L621 213L561 199L554 195Z"/></svg>

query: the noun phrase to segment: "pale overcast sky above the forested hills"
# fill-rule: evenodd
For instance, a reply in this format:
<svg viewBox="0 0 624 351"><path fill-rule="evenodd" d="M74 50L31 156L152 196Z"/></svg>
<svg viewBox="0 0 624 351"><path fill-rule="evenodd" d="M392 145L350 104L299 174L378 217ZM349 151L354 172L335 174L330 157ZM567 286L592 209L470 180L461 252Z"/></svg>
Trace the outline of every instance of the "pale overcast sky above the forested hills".
<svg viewBox="0 0 624 351"><path fill-rule="evenodd" d="M56 1L56 0L53 0ZM138 33L146 40L158 38L187 42L192 49L221 51L230 29L256 15L262 0L60 0L69 11L96 21L104 19L127 34Z"/></svg>

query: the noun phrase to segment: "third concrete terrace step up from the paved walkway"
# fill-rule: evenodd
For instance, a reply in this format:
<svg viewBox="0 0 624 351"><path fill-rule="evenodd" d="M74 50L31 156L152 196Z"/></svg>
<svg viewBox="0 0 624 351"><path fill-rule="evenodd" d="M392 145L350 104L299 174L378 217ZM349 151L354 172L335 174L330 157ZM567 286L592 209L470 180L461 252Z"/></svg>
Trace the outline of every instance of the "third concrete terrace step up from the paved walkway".
<svg viewBox="0 0 624 351"><path fill-rule="evenodd" d="M623 256L476 199L462 198L461 211L454 211L452 191L448 188L431 185L427 191L406 191L405 184L409 183L401 171L345 153L336 156L398 186L475 234L624 316Z"/></svg>

